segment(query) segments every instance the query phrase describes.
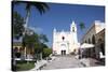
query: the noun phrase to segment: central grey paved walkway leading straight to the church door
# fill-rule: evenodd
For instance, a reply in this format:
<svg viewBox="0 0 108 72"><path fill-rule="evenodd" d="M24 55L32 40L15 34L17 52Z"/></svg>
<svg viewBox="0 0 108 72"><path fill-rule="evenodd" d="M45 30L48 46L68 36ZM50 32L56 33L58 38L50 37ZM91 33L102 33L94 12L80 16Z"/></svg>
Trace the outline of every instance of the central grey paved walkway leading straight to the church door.
<svg viewBox="0 0 108 72"><path fill-rule="evenodd" d="M42 70L67 69L83 67L75 56L56 56L55 60L49 62Z"/></svg>

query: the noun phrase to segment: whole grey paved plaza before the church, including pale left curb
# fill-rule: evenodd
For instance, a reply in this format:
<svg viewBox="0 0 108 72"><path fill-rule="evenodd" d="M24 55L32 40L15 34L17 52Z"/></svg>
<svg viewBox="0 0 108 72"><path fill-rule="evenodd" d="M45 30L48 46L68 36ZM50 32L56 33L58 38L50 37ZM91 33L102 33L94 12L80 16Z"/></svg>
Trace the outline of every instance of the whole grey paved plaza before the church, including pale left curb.
<svg viewBox="0 0 108 72"><path fill-rule="evenodd" d="M39 63L44 63L43 66L37 64L30 71L36 70L54 70L54 69L71 69L71 68L86 68L86 67L102 67L98 60L89 59L78 59L75 55L64 55L64 56L53 56L53 60L43 60ZM90 64L89 64L90 63ZM38 67L38 68L37 68ZM40 68L39 68L40 67Z"/></svg>

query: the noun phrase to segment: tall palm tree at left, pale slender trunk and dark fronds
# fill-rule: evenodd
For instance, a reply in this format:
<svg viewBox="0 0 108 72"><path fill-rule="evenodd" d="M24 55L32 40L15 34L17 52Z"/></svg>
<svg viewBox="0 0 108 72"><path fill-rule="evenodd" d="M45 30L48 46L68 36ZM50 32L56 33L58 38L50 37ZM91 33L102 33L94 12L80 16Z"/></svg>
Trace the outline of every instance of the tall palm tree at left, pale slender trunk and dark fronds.
<svg viewBox="0 0 108 72"><path fill-rule="evenodd" d="M26 31L27 31L27 27L28 27L28 20L29 20L29 16L30 16L30 11L31 11L31 6L36 8L39 13L42 15L43 13L45 13L46 10L49 10L49 5L44 2L31 2L31 1L13 1L15 4L19 4L19 3L24 3L26 4L26 17L25 17L25 30L23 33L23 39L25 38ZM24 41L23 41L24 42ZM25 47L25 43L23 43L24 47ZM25 57L26 57L26 47L25 47Z"/></svg>

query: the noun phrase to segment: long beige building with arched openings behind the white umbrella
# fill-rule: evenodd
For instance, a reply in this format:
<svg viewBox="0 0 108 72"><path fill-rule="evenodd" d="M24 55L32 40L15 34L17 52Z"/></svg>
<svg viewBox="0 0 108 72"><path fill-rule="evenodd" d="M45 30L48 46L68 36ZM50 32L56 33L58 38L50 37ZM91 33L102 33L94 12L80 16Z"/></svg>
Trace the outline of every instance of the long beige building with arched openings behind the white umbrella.
<svg viewBox="0 0 108 72"><path fill-rule="evenodd" d="M97 34L98 32L100 32L102 30L105 29L105 23L102 23L99 20L95 20L93 23L93 25L87 29L86 33L83 35L82 40L81 40L81 44L82 43L89 43L89 44L94 44L95 47L89 49L90 56L93 58L97 58L98 57L98 48L96 48L96 39L97 37L99 37L99 34ZM103 37L103 39L105 39L105 37Z"/></svg>

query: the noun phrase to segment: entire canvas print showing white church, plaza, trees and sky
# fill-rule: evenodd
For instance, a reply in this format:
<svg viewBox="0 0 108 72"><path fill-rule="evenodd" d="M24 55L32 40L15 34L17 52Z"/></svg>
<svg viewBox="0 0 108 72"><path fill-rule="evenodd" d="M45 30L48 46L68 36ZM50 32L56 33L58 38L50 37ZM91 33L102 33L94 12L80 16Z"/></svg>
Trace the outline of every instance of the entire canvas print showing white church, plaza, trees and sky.
<svg viewBox="0 0 108 72"><path fill-rule="evenodd" d="M105 66L104 6L19 3L12 10L13 71Z"/></svg>

